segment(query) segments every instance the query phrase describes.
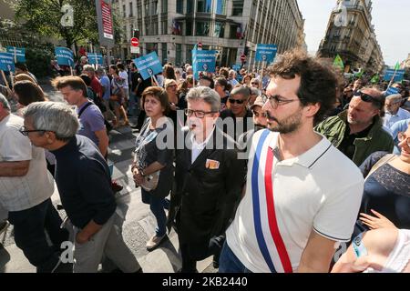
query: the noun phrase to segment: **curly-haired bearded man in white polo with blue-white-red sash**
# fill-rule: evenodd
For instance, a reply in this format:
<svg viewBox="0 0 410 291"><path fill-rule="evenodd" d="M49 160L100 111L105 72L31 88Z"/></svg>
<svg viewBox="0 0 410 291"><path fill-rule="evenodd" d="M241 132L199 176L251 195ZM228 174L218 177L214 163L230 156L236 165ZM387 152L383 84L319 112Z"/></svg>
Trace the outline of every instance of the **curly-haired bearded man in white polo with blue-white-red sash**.
<svg viewBox="0 0 410 291"><path fill-rule="evenodd" d="M313 131L335 103L337 79L299 52L282 55L270 73L269 130L253 137L220 272L328 272L352 236L364 186L354 163Z"/></svg>

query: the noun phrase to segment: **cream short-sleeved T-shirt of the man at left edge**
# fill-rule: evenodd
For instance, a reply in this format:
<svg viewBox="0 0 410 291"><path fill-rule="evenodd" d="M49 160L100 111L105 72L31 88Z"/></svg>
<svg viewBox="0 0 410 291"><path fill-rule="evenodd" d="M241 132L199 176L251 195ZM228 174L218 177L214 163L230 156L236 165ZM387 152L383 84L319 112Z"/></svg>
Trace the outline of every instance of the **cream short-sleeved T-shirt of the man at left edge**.
<svg viewBox="0 0 410 291"><path fill-rule="evenodd" d="M32 146L28 137L18 131L22 125L23 118L16 115L8 115L0 122L0 162L30 161L26 176L0 176L0 204L8 211L37 206L54 192L44 149Z"/></svg>

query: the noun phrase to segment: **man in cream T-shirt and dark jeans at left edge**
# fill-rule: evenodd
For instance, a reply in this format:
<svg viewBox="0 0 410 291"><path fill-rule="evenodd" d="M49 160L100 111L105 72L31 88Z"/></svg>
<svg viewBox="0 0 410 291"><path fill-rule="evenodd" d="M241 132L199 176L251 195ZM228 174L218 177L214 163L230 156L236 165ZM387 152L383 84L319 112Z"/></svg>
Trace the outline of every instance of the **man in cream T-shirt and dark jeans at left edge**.
<svg viewBox="0 0 410 291"><path fill-rule="evenodd" d="M14 226L15 245L36 271L62 272L65 267L57 251L68 232L60 228L63 221L51 202L54 179L47 171L44 150L32 146L26 136L43 131L27 130L23 122L10 114L10 105L0 94L0 205Z"/></svg>

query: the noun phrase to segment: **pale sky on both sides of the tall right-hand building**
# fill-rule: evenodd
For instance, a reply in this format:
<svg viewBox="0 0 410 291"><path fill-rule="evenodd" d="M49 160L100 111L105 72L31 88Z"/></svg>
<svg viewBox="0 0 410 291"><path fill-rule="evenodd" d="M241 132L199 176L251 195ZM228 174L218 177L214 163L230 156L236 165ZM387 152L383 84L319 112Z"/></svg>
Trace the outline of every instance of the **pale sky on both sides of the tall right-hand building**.
<svg viewBox="0 0 410 291"><path fill-rule="evenodd" d="M326 33L336 0L297 0L302 12L308 51L315 53ZM395 65L410 54L409 0L373 0L372 24L384 63Z"/></svg>

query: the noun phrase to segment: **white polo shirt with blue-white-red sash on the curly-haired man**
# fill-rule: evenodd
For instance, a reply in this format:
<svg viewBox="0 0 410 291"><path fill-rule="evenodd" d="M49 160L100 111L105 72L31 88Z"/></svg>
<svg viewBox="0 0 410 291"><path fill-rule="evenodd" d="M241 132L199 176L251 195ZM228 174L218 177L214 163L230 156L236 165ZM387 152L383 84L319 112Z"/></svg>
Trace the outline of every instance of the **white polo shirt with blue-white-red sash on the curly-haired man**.
<svg viewBox="0 0 410 291"><path fill-rule="evenodd" d="M362 201L361 172L324 136L301 156L278 161L278 135L253 136L246 194L226 232L232 252L255 273L296 270L312 230L349 241Z"/></svg>

